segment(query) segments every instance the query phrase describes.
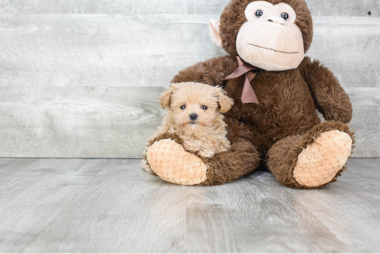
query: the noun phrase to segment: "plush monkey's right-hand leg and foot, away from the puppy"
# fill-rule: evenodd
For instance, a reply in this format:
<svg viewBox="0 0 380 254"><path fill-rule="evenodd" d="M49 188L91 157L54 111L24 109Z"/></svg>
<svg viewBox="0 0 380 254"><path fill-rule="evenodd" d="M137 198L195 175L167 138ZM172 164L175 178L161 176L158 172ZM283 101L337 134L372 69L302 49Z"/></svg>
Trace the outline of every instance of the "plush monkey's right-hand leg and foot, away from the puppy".
<svg viewBox="0 0 380 254"><path fill-rule="evenodd" d="M321 188L345 170L354 132L335 121L316 125L308 133L286 137L267 154L267 167L282 184L300 189Z"/></svg>

